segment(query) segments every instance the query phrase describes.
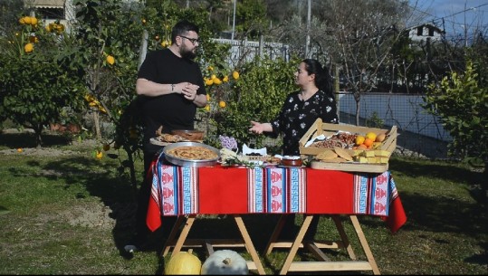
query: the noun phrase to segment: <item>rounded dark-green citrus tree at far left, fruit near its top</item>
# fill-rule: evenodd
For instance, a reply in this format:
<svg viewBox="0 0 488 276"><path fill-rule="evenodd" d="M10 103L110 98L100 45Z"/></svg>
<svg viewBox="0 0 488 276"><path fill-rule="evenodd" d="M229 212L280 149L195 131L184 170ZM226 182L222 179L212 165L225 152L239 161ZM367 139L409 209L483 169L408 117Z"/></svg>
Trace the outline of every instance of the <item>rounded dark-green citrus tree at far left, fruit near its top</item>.
<svg viewBox="0 0 488 276"><path fill-rule="evenodd" d="M76 119L83 109L82 71L73 59L77 44L63 28L50 32L37 18L21 16L0 47L0 114L33 128L42 147L44 126Z"/></svg>

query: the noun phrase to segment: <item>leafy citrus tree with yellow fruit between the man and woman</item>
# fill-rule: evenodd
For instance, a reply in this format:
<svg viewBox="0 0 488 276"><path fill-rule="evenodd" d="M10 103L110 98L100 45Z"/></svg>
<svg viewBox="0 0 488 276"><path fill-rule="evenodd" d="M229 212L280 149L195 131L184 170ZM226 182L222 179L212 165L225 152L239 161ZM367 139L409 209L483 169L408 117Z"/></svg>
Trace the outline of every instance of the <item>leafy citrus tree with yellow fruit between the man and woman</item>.
<svg viewBox="0 0 488 276"><path fill-rule="evenodd" d="M290 62L256 58L238 69L239 77L237 80L232 77L230 85L212 84L207 90L215 100L211 98L206 112L215 128L215 135L213 139L207 139L208 142L218 148L218 136L222 135L235 138L239 148L244 143L263 147L265 136L250 133L250 121L269 122L277 116L286 95L297 90L293 72L298 63L294 58ZM225 105L221 104L222 101ZM278 151L278 148L273 151Z"/></svg>

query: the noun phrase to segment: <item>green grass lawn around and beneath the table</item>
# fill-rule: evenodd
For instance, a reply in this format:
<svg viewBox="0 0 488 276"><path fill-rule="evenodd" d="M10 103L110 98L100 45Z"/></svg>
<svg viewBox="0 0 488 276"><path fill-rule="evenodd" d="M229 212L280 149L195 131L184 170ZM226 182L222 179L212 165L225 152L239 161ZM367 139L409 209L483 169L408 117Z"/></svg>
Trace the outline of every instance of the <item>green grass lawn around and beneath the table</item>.
<svg viewBox="0 0 488 276"><path fill-rule="evenodd" d="M25 135L0 134L0 150L28 148ZM72 155L34 156L0 153L0 274L160 274L164 263L154 250L126 254L134 214L134 188L118 173L116 151L97 160L93 147L72 146L48 137L46 148ZM32 147L32 146L31 146ZM138 160L139 169L142 162ZM360 216L382 274L488 274L488 218L482 173L463 164L394 157L390 171L407 212L407 224L389 233L377 217ZM299 216L300 217L300 216ZM215 226L215 219L221 220ZM247 215L244 221L258 250L273 229L273 215ZM344 221L346 231L351 225ZM234 234L225 216L196 221L191 235ZM334 239L329 217L321 217L319 239ZM353 245L358 241L351 239ZM357 248L357 247L355 247ZM345 260L346 252L327 252ZM356 250L359 258L364 254ZM196 249L200 260L204 252ZM286 257L277 250L263 257L268 274L280 271ZM298 259L311 259L300 252ZM254 272L254 271L252 271ZM332 274L349 274L351 271ZM352 271L371 274L370 271ZM320 272L323 274L323 272Z"/></svg>

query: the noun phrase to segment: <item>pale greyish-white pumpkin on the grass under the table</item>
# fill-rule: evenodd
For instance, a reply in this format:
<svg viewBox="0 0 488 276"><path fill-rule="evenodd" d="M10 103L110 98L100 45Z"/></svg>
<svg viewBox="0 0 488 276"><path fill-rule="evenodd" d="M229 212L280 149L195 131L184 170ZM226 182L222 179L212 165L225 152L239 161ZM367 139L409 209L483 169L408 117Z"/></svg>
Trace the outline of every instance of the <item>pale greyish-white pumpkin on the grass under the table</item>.
<svg viewBox="0 0 488 276"><path fill-rule="evenodd" d="M202 264L202 275L247 275L247 262L238 252L217 250Z"/></svg>

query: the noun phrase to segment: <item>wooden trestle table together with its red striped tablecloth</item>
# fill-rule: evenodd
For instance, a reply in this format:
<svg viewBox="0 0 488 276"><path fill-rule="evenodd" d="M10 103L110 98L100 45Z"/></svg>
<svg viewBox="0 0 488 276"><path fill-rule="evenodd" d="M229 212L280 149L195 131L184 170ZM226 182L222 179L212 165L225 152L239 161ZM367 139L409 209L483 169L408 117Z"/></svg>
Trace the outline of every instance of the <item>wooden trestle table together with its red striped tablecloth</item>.
<svg viewBox="0 0 488 276"><path fill-rule="evenodd" d="M161 154L153 161L148 177L152 178L147 216L149 229L155 231L164 227L164 216L178 216L163 255L170 248L176 253L184 246L202 246L209 254L214 252L214 247L244 247L253 259L247 261L249 269L257 270L259 274L265 274L265 271L244 225L243 214L304 215L300 231L292 243L277 239L283 222L280 219L265 247L264 254L275 248L289 250L280 274L288 271L373 271L379 274L357 216L378 216L386 221L392 233L407 221L395 181L388 171L369 174L309 167L179 167L165 163ZM237 240L187 239L200 214L232 216L241 237ZM332 218L340 241L303 241L315 215ZM357 260L340 216L350 219L367 261ZM300 248L313 252L319 261L293 262ZM346 248L350 261L330 262L322 248Z"/></svg>

